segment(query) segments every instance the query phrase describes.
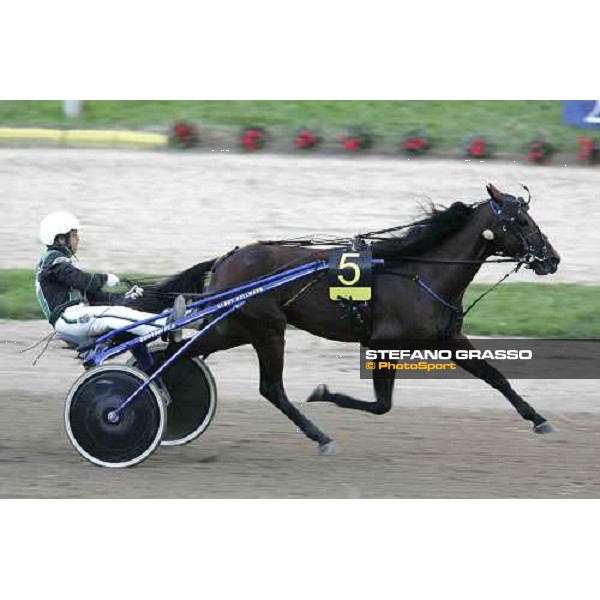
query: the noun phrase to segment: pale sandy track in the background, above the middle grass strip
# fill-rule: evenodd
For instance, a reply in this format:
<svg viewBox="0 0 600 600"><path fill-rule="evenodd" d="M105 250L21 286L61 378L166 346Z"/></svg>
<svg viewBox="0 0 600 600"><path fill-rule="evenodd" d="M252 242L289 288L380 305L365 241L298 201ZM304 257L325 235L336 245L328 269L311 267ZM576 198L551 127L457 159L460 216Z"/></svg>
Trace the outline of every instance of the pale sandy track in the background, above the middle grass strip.
<svg viewBox="0 0 600 600"><path fill-rule="evenodd" d="M598 283L600 169L381 157L0 149L0 268L35 263L39 221L82 222L90 269L172 273L257 239L350 236L410 221L420 202L531 188L532 215L561 254L554 281ZM508 269L489 265L479 281ZM515 280L531 281L530 272Z"/></svg>

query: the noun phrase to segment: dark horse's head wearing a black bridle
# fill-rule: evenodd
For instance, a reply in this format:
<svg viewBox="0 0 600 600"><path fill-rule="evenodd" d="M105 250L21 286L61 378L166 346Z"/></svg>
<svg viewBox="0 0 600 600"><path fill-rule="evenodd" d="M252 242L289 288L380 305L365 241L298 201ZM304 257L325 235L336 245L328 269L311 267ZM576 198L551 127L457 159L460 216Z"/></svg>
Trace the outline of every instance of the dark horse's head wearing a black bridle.
<svg viewBox="0 0 600 600"><path fill-rule="evenodd" d="M533 269L536 275L556 273L560 256L537 223L529 214L531 195L527 200L504 194L489 184L490 200L487 203L493 213L492 224L482 232L491 244L492 254L516 258Z"/></svg>

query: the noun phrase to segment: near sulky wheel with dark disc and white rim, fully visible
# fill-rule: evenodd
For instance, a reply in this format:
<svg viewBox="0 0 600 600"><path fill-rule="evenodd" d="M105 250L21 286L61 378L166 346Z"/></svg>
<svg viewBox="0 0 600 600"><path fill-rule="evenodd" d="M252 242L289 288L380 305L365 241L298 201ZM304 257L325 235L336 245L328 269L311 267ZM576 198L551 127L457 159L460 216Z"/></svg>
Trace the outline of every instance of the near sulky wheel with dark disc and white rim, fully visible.
<svg viewBox="0 0 600 600"><path fill-rule="evenodd" d="M102 467L131 467L160 444L165 407L151 383L111 422L109 414L148 376L125 365L106 365L86 371L71 387L65 404L65 426L79 454Z"/></svg>

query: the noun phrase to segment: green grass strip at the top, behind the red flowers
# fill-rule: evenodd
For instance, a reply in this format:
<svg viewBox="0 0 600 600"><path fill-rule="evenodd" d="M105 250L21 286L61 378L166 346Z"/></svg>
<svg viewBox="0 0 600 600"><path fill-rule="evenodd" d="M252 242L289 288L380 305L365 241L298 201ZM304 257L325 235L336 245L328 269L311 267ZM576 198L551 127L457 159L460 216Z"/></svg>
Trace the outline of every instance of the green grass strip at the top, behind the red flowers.
<svg viewBox="0 0 600 600"><path fill-rule="evenodd" d="M498 152L522 151L538 135L559 151L574 152L582 135L563 125L559 100L89 100L77 120L63 117L59 100L0 101L0 126L139 128L169 126L181 118L201 126L260 124L282 136L304 125L329 136L363 125L387 143L397 142L408 129L425 127L441 150L460 149L465 135L481 133Z"/></svg>

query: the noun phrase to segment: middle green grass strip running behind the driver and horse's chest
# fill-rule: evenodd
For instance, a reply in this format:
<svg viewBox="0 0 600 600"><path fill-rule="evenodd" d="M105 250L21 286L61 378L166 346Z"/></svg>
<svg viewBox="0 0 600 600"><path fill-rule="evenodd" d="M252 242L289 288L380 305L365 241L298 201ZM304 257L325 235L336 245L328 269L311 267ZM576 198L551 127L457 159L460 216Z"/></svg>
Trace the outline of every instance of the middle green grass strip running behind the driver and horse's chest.
<svg viewBox="0 0 600 600"><path fill-rule="evenodd" d="M33 271L0 270L0 318L42 319ZM484 285L469 288L466 304ZM480 302L467 316L472 335L544 338L600 338L600 286L507 283Z"/></svg>

